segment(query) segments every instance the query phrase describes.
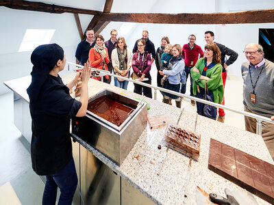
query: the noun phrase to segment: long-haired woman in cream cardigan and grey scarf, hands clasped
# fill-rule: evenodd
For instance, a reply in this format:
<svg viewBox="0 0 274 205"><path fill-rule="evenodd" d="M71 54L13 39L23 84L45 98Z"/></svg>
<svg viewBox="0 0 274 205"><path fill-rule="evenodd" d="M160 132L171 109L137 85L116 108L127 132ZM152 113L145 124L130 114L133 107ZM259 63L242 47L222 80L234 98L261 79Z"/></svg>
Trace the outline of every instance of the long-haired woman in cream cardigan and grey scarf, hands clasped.
<svg viewBox="0 0 274 205"><path fill-rule="evenodd" d="M132 51L127 47L125 38L117 40L116 49L112 51L112 66L116 75L129 78L129 70L132 67ZM114 85L127 90L128 81L114 78Z"/></svg>

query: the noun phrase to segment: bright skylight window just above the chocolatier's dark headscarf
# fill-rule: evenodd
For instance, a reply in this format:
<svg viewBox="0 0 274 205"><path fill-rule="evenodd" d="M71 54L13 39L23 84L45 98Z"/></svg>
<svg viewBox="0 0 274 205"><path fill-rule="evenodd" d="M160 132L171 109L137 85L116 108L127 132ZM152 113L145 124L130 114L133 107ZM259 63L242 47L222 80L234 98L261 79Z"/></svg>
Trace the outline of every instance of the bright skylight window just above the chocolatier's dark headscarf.
<svg viewBox="0 0 274 205"><path fill-rule="evenodd" d="M27 29L18 52L33 51L41 44L48 44L55 29Z"/></svg>

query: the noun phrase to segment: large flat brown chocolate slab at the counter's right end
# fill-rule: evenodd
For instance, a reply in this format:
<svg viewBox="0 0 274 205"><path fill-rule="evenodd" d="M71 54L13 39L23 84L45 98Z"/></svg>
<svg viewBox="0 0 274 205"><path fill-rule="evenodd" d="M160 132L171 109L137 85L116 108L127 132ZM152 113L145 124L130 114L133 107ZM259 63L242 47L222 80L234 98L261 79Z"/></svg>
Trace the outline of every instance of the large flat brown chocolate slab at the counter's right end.
<svg viewBox="0 0 274 205"><path fill-rule="evenodd" d="M274 165L210 139L208 169L274 204Z"/></svg>

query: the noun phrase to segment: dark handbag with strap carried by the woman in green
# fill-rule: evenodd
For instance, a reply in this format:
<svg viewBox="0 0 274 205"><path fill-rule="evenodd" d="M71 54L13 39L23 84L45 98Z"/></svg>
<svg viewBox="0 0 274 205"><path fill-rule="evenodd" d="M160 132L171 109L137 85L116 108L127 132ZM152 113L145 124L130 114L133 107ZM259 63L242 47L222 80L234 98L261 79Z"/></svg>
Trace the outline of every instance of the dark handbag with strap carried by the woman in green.
<svg viewBox="0 0 274 205"><path fill-rule="evenodd" d="M199 85L197 85L197 86L199 86ZM200 98L203 98L203 100L208 100L210 102L213 102L213 99L208 92L207 81L205 83L205 94L203 94L203 96L200 96ZM203 115L203 116L213 119L213 120L216 120L216 118L217 118L217 108L212 105L207 105L207 104L203 104L201 102L197 102L197 110L198 110L199 115Z"/></svg>

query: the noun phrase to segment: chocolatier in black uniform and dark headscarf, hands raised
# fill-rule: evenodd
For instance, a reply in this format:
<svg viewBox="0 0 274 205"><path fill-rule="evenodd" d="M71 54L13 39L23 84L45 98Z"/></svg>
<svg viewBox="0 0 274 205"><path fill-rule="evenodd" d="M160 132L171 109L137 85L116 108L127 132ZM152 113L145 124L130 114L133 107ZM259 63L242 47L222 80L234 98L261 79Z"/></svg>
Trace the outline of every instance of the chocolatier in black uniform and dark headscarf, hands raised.
<svg viewBox="0 0 274 205"><path fill-rule="evenodd" d="M55 204L57 188L61 194L58 204L71 204L77 187L77 174L69 135L70 119L82 117L88 106L88 79L91 70L85 65L68 85L58 72L64 70L66 57L58 44L38 46L31 56L32 83L27 88L32 115L32 167L47 182L42 204ZM82 81L78 100L69 94Z"/></svg>

